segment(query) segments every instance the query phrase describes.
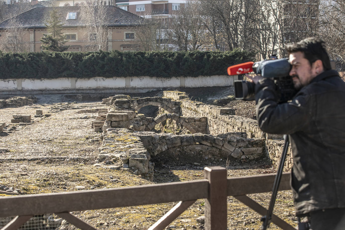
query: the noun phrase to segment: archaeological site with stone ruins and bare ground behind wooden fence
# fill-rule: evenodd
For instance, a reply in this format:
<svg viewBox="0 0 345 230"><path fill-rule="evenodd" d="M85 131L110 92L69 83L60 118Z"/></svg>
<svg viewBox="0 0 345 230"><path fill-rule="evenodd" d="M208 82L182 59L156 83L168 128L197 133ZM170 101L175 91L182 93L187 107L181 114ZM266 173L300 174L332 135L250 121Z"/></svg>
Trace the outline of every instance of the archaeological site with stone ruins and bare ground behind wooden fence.
<svg viewBox="0 0 345 230"><path fill-rule="evenodd" d="M157 224L160 218L179 204L146 201L157 197L159 184L205 181L205 167L223 167L227 178L234 179L276 173L283 136L262 132L253 119L253 102L233 101L231 88L2 96L0 199L39 195L34 199L46 199L44 206L58 211L28 216L18 210L25 204L8 201L6 207L1 205L0 229L205 229L209 204L204 199L195 199L164 227ZM205 92L212 93L200 99ZM292 168L290 153L288 149L285 172ZM123 197L104 195L98 202L90 195L93 199L82 203L94 208L70 210L78 192L86 196L131 187L138 187L138 192L121 190ZM145 192L139 192L140 187ZM161 193L198 193L173 187ZM248 197L267 208L271 189ZM60 202L60 193L76 198ZM114 200L133 204L103 208ZM261 215L236 196L227 196L226 207L227 229L261 226ZM274 214L296 226L292 191L278 192ZM16 228L6 228L16 221ZM281 228L272 223L269 229Z"/></svg>

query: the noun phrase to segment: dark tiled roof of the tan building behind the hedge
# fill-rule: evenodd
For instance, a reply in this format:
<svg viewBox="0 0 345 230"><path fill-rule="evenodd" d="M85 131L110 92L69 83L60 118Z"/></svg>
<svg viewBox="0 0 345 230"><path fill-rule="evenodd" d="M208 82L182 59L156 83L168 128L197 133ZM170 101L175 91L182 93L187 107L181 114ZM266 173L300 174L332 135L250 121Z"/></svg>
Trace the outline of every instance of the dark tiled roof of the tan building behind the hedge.
<svg viewBox="0 0 345 230"><path fill-rule="evenodd" d="M140 24L141 17L126 10L122 10L115 6L103 6L106 9L104 24L106 26L136 26ZM97 11L97 6L95 6ZM45 24L50 18L50 12L56 9L59 20L63 27L85 26L81 20L83 13L82 7L36 7L26 12L18 14L14 18L24 28L45 28ZM68 12L77 12L77 19L66 19ZM0 29L6 28L10 23L10 19L0 23Z"/></svg>

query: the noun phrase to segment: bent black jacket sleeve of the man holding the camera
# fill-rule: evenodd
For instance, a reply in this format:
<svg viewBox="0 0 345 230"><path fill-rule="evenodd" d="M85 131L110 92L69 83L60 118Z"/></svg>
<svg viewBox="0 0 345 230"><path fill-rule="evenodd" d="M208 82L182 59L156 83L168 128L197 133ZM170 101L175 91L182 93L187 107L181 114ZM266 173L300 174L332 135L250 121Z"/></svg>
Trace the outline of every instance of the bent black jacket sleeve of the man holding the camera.
<svg viewBox="0 0 345 230"><path fill-rule="evenodd" d="M291 134L303 129L311 119L310 94L299 91L291 102L278 103L273 79L263 78L255 86L256 116L262 131Z"/></svg>

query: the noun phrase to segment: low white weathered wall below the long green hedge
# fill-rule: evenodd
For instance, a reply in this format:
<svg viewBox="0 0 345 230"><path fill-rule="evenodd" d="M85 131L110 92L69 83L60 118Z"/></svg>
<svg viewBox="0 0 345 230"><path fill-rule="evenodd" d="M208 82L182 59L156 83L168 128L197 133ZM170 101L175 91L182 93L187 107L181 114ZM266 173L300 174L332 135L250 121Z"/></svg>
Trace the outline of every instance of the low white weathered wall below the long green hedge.
<svg viewBox="0 0 345 230"><path fill-rule="evenodd" d="M178 87L233 86L238 76L0 79L1 94L64 92L147 92Z"/></svg>

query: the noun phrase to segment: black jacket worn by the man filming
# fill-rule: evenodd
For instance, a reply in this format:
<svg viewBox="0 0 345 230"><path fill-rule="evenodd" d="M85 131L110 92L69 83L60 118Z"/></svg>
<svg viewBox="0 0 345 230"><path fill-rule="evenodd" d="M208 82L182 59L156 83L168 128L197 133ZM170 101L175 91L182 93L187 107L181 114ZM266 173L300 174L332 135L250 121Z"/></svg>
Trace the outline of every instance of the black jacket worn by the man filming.
<svg viewBox="0 0 345 230"><path fill-rule="evenodd" d="M275 88L272 79L256 84L257 119L264 132L289 134L297 216L344 208L345 82L336 71L325 71L280 104Z"/></svg>

